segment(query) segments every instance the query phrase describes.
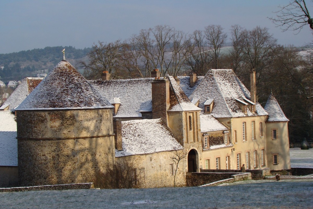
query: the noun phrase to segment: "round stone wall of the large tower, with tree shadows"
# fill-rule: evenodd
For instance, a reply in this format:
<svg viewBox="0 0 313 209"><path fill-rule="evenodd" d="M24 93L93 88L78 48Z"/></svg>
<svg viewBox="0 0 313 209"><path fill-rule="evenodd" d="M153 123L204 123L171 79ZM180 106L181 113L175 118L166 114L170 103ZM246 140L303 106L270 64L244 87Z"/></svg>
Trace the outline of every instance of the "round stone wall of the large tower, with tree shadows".
<svg viewBox="0 0 313 209"><path fill-rule="evenodd" d="M115 157L112 109L17 111L20 186L92 182Z"/></svg>

